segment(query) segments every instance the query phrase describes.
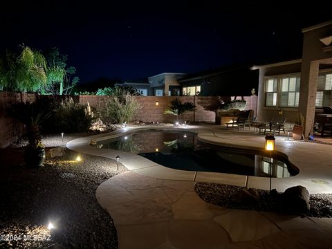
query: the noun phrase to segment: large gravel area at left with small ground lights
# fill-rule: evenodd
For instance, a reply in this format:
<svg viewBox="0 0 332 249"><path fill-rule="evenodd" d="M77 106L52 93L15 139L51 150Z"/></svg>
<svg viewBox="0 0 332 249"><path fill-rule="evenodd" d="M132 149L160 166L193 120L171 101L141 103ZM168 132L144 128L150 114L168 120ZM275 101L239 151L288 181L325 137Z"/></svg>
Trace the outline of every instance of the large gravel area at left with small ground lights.
<svg viewBox="0 0 332 249"><path fill-rule="evenodd" d="M43 142L65 147L76 137L47 136ZM44 167L28 169L18 159L23 150L12 151L15 164L1 165L0 248L118 248L116 228L95 190L125 167L117 171L115 160L98 156L81 155L77 162L77 154L65 149L64 156L47 158ZM55 229L46 228L49 221Z"/></svg>

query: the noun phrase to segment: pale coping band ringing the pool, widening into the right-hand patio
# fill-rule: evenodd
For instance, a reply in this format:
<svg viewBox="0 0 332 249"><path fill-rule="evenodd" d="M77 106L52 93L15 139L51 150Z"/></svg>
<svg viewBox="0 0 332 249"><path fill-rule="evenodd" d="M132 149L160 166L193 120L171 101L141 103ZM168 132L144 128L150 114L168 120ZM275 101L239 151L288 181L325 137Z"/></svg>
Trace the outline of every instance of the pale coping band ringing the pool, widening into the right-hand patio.
<svg viewBox="0 0 332 249"><path fill-rule="evenodd" d="M214 172L188 172L179 169L170 169L163 165L158 165L147 158L137 154L130 154L124 151L113 149L98 149L92 147L91 141L97 142L104 139L123 136L126 133L142 129L176 130L191 131L197 133L199 140L214 145L223 145L241 149L261 150L264 146L264 137L250 136L248 133L237 133L232 131L220 130L218 127L205 126L187 126L187 127L126 127L117 129L111 133L98 134L77 138L66 144L68 149L82 154L91 154L94 156L103 156L115 159L120 156L120 163L132 172L142 174L153 178L161 178L174 181L196 181L223 183L237 185L241 187L253 187L262 190L269 189L270 178L258 176L243 176L226 173ZM308 142L286 141L282 136L276 136L276 151L288 157L288 160L299 169L299 174L289 178L272 178L272 188L277 191L284 191L294 185L302 185L308 189L311 194L331 193L332 192L332 156L329 151L331 146L314 144ZM304 152L304 153L303 153ZM330 173L331 172L331 173ZM312 180L316 181L313 182ZM326 182L319 184L317 181Z"/></svg>

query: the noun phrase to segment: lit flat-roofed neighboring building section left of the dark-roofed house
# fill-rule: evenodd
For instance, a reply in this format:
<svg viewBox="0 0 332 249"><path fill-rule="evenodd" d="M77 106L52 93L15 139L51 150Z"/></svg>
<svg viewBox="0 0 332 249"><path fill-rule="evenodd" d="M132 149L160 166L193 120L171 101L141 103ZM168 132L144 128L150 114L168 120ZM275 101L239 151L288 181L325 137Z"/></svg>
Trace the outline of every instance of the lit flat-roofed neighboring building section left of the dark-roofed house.
<svg viewBox="0 0 332 249"><path fill-rule="evenodd" d="M186 73L160 73L148 77L150 87L154 96L179 96L181 95L181 85L178 80Z"/></svg>

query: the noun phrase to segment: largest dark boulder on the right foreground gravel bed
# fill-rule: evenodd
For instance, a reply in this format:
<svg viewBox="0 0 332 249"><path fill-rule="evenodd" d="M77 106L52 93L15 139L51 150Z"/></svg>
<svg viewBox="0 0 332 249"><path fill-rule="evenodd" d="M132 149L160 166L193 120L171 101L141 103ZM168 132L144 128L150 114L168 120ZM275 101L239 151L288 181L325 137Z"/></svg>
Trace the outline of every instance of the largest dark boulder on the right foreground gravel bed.
<svg viewBox="0 0 332 249"><path fill-rule="evenodd" d="M280 194L278 206L280 211L291 214L306 214L310 209L309 192L306 187L295 186Z"/></svg>

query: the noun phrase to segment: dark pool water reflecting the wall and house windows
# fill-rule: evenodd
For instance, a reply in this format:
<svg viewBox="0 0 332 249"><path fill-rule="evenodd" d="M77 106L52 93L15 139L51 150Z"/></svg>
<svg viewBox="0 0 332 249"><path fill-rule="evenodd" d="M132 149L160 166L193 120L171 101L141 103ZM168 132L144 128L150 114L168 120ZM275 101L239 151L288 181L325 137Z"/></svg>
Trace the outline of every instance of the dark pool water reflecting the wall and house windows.
<svg viewBox="0 0 332 249"><path fill-rule="evenodd" d="M139 154L173 169L223 172L248 176L289 177L297 172L284 158L261 151L232 149L200 142L196 133L147 130L99 142L102 149Z"/></svg>

